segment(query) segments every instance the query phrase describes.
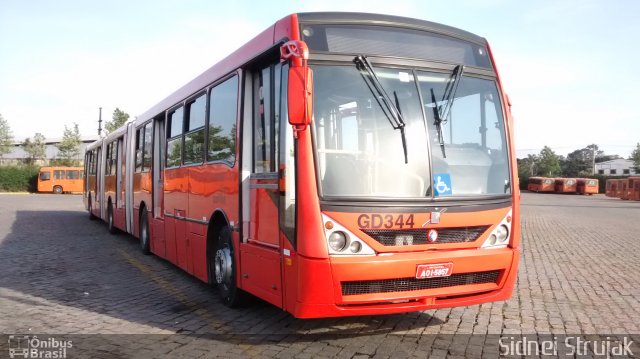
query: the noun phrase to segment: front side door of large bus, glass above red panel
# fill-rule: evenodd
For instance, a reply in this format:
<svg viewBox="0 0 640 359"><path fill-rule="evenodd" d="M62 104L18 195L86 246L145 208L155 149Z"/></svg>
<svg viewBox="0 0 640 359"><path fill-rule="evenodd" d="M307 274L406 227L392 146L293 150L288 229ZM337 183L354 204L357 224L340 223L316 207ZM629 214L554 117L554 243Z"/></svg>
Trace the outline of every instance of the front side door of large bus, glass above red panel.
<svg viewBox="0 0 640 359"><path fill-rule="evenodd" d="M277 136L279 111L274 96L274 69L253 74L253 163L249 178L250 221L241 250L242 286L282 307ZM279 78L279 76L278 76ZM279 83L279 81L278 81ZM278 86L279 87L279 86Z"/></svg>

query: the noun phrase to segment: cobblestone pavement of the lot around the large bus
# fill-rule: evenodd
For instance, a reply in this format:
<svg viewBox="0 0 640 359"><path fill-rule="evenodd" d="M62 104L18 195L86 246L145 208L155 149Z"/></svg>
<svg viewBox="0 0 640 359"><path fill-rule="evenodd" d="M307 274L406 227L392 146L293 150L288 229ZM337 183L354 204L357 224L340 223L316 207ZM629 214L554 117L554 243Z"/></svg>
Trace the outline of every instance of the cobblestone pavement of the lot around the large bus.
<svg viewBox="0 0 640 359"><path fill-rule="evenodd" d="M10 334L57 335L74 341L68 357L105 358L494 357L499 336L640 334L640 202L523 193L522 213L506 302L298 320L260 301L223 307L133 237L89 221L80 196L2 194L0 357Z"/></svg>

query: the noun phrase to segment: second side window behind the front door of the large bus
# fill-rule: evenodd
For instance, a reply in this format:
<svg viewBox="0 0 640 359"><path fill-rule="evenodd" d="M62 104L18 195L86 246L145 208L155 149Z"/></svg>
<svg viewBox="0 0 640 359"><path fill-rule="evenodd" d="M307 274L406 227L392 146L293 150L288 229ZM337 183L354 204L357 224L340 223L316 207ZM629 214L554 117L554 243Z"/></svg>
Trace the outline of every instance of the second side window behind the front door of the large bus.
<svg viewBox="0 0 640 359"><path fill-rule="evenodd" d="M202 163L204 159L204 122L207 115L207 98L201 95L186 106L184 136L184 164Z"/></svg>

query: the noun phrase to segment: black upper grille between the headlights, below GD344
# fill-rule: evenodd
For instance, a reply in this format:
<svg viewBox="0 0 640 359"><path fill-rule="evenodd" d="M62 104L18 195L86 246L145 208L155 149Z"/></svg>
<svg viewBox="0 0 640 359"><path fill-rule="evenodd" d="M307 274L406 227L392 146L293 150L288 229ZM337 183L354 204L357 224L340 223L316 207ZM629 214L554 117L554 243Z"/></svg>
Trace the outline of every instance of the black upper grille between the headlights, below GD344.
<svg viewBox="0 0 640 359"><path fill-rule="evenodd" d="M478 239L489 226L434 228L438 231L438 240L433 244L469 243ZM421 229L363 229L362 232L383 246L407 246L431 244L427 241L427 228Z"/></svg>

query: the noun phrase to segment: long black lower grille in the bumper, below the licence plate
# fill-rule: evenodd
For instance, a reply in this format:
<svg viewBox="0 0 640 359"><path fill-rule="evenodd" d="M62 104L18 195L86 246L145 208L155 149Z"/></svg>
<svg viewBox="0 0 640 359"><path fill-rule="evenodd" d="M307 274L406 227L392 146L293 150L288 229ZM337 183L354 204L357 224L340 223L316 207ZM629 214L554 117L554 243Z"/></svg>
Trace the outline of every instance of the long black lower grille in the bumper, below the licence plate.
<svg viewBox="0 0 640 359"><path fill-rule="evenodd" d="M497 283L499 270L452 274L437 278L395 278L342 282L342 295L410 292L422 289L446 288L457 285Z"/></svg>

